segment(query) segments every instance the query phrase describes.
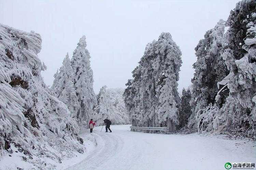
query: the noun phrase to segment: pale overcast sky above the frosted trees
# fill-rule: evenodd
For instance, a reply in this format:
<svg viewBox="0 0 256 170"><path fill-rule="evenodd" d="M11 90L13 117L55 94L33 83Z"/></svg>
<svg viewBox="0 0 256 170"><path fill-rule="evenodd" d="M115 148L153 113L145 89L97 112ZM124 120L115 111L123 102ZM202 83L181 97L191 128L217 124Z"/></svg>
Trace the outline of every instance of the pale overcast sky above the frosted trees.
<svg viewBox="0 0 256 170"><path fill-rule="evenodd" d="M0 22L40 33L42 72L52 85L53 74L82 35L87 37L94 72L94 90L125 87L147 43L170 32L182 51L179 91L193 78L194 48L219 19L226 20L237 0L177 1L12 1L0 0Z"/></svg>

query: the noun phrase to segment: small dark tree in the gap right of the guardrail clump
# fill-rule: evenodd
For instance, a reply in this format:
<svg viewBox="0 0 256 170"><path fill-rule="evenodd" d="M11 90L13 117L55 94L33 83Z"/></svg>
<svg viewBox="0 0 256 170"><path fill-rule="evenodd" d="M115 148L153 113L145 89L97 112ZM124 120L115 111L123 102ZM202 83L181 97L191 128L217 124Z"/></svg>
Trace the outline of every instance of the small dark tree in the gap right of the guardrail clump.
<svg viewBox="0 0 256 170"><path fill-rule="evenodd" d="M183 88L182 90L182 97L181 97L181 104L179 107L179 128L183 128L187 122L188 118L190 117L192 111L189 102L191 100L191 92L189 89Z"/></svg>

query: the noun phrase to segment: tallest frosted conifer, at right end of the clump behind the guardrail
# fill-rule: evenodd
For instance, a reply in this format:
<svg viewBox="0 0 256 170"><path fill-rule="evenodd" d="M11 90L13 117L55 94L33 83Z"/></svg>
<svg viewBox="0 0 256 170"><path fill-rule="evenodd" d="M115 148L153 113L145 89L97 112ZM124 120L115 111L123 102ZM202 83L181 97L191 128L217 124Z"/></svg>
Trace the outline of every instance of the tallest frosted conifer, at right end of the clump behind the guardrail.
<svg viewBox="0 0 256 170"><path fill-rule="evenodd" d="M181 50L172 40L170 33L161 33L154 44L155 60L153 64L156 81L158 107L156 112L159 123L167 123L169 131L178 124L180 97L177 91L179 71L182 64Z"/></svg>

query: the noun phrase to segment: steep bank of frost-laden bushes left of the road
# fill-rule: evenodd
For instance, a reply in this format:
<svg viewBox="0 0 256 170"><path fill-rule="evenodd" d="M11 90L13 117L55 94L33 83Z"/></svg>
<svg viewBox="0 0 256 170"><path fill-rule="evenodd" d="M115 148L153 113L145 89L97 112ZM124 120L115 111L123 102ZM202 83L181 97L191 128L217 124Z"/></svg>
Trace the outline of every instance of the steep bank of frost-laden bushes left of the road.
<svg viewBox="0 0 256 170"><path fill-rule="evenodd" d="M83 147L67 106L51 95L41 77L46 69L37 55L41 42L33 31L0 24L0 152L18 147L29 162L36 161L32 156L60 162Z"/></svg>

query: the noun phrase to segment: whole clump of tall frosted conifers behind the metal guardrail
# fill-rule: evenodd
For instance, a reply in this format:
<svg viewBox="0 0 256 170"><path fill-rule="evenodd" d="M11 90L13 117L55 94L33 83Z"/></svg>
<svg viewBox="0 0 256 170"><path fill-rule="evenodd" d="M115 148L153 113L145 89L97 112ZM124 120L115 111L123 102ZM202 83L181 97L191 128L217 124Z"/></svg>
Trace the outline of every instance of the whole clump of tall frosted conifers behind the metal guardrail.
<svg viewBox="0 0 256 170"><path fill-rule="evenodd" d="M157 41L146 46L139 66L132 72L133 80L128 80L124 92L132 125L175 129L181 63L181 51L170 33L161 33Z"/></svg>

